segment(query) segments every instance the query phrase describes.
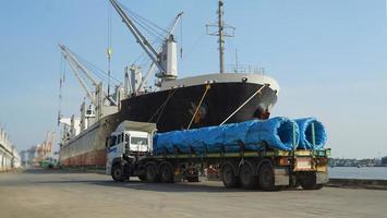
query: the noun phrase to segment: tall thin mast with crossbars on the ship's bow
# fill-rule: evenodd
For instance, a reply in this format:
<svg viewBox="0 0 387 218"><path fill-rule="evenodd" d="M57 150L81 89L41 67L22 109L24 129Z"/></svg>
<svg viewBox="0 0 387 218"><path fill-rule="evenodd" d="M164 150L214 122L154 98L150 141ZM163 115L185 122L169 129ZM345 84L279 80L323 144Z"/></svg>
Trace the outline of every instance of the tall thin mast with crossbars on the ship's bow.
<svg viewBox="0 0 387 218"><path fill-rule="evenodd" d="M211 36L218 36L218 44L219 44L219 72L225 73L225 38L226 37L233 37L234 36L234 31L235 27L229 26L225 24L223 21L223 15L225 15L225 10L223 10L223 1L219 0L218 1L218 22L217 24L210 24L206 25L207 27L207 34ZM217 29L209 31L211 27L216 27ZM230 33L226 33L226 29L230 29Z"/></svg>

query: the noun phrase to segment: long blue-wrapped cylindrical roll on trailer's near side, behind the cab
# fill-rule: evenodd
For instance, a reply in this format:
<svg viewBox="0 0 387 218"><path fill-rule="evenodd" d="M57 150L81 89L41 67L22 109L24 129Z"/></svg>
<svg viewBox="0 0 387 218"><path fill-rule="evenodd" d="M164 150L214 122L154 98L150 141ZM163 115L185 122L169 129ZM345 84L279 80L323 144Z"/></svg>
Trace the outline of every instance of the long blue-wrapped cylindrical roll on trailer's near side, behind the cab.
<svg viewBox="0 0 387 218"><path fill-rule="evenodd" d="M155 154L180 153L226 153L262 149L262 142L271 148L291 150L299 143L299 128L294 121L278 117L266 121L252 120L221 126L158 133L154 138Z"/></svg>

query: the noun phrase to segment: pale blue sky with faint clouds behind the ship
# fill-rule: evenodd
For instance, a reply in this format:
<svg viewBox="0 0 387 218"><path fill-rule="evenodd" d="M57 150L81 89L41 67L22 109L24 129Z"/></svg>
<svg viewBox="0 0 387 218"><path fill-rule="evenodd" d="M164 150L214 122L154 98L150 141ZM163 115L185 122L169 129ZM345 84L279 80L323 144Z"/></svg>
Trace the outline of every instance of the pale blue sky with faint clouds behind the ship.
<svg viewBox="0 0 387 218"><path fill-rule="evenodd" d="M121 0L128 9L168 26L184 11L177 40L183 48L179 76L218 72L216 0ZM387 156L387 13L385 0L225 0L235 26L226 63L265 68L280 93L273 116L316 117L332 157ZM112 76L142 55L107 0L1 0L0 126L26 149L58 131L59 77L64 44L107 71L111 14ZM182 34L181 34L182 33ZM61 110L77 113L85 93L65 73Z"/></svg>

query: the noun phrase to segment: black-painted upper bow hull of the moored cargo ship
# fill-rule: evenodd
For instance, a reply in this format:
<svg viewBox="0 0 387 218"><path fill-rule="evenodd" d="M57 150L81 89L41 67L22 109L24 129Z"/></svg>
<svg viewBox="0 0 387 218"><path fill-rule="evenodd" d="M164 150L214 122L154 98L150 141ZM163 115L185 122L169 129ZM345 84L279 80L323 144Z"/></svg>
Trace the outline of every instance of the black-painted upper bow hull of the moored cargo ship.
<svg viewBox="0 0 387 218"><path fill-rule="evenodd" d="M158 132L219 125L263 86L255 83L214 83L206 93L206 85L132 96L121 101L120 117L123 120L155 122ZM258 119L276 101L277 90L266 86L226 123Z"/></svg>

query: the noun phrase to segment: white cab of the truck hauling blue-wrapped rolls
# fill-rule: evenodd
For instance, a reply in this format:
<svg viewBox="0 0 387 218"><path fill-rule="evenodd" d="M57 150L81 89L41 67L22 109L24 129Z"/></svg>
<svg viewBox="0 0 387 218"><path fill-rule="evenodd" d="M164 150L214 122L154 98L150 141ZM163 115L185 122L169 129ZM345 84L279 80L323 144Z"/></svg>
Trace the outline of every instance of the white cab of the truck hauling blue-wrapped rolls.
<svg viewBox="0 0 387 218"><path fill-rule="evenodd" d="M106 174L112 175L114 180L122 180L122 164L150 155L155 133L154 123L121 122L107 140Z"/></svg>

